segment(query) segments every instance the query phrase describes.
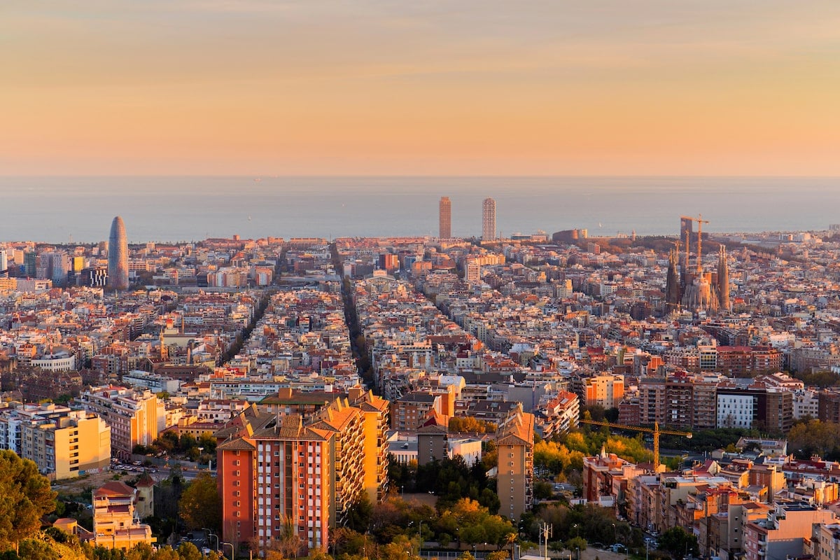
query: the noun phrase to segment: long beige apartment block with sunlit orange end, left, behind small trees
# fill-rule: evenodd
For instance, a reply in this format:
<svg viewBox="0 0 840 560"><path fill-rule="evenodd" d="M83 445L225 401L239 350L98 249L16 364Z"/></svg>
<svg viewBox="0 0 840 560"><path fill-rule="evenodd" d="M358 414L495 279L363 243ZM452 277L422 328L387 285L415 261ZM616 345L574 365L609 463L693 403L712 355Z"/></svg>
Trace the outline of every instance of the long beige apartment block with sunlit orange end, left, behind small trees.
<svg viewBox="0 0 840 560"><path fill-rule="evenodd" d="M108 423L111 452L123 460L131 458L135 445L150 445L164 428L165 406L150 390L94 387L82 392L78 402Z"/></svg>

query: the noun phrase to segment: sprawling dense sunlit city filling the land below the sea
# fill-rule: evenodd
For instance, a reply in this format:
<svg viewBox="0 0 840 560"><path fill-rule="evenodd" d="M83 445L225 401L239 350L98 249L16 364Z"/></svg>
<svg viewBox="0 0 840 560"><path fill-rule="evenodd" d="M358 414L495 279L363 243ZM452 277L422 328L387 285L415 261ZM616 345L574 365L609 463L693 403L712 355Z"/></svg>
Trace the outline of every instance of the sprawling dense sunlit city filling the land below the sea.
<svg viewBox="0 0 840 560"><path fill-rule="evenodd" d="M488 197L455 238L452 205L435 237L0 243L0 447L76 512L43 520L124 554L831 557L840 225L501 237Z"/></svg>

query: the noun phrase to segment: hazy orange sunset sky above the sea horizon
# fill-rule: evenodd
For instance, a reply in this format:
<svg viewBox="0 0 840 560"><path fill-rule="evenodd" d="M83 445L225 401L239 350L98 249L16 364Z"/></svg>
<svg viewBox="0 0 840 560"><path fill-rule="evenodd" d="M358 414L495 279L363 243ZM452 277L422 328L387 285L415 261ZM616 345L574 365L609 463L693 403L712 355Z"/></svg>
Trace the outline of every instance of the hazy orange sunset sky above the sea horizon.
<svg viewBox="0 0 840 560"><path fill-rule="evenodd" d="M838 0L3 0L0 175L840 175Z"/></svg>

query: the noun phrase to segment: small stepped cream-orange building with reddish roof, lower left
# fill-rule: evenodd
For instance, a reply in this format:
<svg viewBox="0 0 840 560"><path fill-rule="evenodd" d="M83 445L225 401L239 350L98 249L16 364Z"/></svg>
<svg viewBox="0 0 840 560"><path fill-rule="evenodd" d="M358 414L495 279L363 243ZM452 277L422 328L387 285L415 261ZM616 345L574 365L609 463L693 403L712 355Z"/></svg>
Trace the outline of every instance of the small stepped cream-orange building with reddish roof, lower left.
<svg viewBox="0 0 840 560"><path fill-rule="evenodd" d="M155 542L151 527L139 522L137 490L113 480L93 492L94 543L130 550L139 542Z"/></svg>

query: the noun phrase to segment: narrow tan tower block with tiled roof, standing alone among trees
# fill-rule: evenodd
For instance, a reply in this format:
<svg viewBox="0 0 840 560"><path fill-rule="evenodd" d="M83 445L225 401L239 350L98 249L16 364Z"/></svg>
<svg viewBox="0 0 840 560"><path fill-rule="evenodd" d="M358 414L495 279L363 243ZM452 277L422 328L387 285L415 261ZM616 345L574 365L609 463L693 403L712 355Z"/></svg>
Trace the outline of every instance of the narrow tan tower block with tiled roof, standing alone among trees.
<svg viewBox="0 0 840 560"><path fill-rule="evenodd" d="M533 504L533 414L517 412L496 432L499 515L517 520Z"/></svg>

